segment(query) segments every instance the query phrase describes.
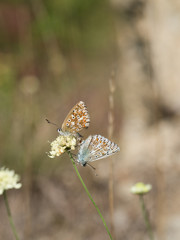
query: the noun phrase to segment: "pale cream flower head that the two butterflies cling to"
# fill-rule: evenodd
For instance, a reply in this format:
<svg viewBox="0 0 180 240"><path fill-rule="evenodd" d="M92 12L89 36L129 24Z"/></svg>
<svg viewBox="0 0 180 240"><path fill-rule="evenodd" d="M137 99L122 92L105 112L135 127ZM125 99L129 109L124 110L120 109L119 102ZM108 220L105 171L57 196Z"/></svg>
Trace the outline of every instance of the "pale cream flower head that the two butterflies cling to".
<svg viewBox="0 0 180 240"><path fill-rule="evenodd" d="M50 158L58 157L67 150L74 150L76 147L76 138L73 135L70 136L58 136L53 142L51 142L51 150L48 156Z"/></svg>

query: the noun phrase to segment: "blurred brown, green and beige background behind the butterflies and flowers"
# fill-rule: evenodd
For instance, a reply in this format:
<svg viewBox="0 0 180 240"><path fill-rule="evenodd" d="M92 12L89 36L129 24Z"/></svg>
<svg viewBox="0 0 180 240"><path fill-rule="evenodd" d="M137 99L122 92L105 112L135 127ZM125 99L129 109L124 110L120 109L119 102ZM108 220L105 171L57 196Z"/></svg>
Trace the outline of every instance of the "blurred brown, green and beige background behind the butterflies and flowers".
<svg viewBox="0 0 180 240"><path fill-rule="evenodd" d="M114 239L148 239L138 181L152 184L156 239L180 239L179 42L178 0L0 2L0 159L21 176L8 191L20 239L109 239L67 154L46 154L58 133L45 118L61 126L80 100L82 135L121 148L93 164L98 176L78 166ZM0 212L13 239L2 196Z"/></svg>

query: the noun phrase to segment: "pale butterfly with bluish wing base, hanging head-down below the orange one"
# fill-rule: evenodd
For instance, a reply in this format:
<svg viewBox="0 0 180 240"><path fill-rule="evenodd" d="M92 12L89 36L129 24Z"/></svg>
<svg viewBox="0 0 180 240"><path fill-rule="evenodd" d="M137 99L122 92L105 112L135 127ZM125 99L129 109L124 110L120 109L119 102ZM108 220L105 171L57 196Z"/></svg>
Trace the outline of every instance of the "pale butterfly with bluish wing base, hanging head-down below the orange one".
<svg viewBox="0 0 180 240"><path fill-rule="evenodd" d="M88 162L108 157L117 151L120 151L120 148L109 139L101 135L89 136L80 145L77 162L85 167Z"/></svg>

